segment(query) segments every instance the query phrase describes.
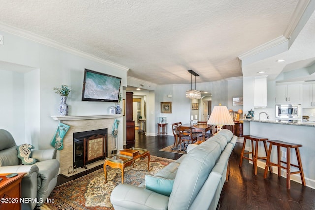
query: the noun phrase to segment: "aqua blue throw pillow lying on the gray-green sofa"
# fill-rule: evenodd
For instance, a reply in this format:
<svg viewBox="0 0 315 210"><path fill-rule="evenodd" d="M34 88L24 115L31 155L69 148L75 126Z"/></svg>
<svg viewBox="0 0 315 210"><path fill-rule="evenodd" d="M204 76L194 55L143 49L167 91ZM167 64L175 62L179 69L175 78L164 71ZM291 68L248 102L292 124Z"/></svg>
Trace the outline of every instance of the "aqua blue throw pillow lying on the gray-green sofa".
<svg viewBox="0 0 315 210"><path fill-rule="evenodd" d="M170 196L173 189L174 180L146 175L145 181L146 189L162 195Z"/></svg>

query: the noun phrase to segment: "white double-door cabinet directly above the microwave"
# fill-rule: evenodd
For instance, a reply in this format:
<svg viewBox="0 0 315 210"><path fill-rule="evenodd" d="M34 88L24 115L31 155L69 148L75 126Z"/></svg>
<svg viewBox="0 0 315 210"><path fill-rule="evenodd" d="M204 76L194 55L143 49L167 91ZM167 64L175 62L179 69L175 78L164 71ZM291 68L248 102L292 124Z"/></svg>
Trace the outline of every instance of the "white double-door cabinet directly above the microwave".
<svg viewBox="0 0 315 210"><path fill-rule="evenodd" d="M276 103L292 104L302 103L303 96L302 84L277 84L276 85Z"/></svg>

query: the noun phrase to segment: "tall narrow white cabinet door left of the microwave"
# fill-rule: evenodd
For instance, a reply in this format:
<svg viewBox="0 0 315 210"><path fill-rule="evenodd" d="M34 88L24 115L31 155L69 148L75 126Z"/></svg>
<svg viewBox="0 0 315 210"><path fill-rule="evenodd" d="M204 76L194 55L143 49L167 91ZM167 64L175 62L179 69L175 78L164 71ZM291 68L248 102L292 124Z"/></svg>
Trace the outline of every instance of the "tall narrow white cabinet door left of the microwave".
<svg viewBox="0 0 315 210"><path fill-rule="evenodd" d="M254 79L254 107L267 107L267 76Z"/></svg>

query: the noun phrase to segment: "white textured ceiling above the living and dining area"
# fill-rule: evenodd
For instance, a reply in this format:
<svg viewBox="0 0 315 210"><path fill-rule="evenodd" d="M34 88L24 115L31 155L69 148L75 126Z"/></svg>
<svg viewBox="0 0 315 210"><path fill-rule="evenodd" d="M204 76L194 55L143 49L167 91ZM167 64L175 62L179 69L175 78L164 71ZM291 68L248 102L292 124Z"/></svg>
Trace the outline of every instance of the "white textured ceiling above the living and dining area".
<svg viewBox="0 0 315 210"><path fill-rule="evenodd" d="M238 56L284 35L298 0L1 0L0 23L156 84L242 76ZM314 35L314 34L313 34Z"/></svg>

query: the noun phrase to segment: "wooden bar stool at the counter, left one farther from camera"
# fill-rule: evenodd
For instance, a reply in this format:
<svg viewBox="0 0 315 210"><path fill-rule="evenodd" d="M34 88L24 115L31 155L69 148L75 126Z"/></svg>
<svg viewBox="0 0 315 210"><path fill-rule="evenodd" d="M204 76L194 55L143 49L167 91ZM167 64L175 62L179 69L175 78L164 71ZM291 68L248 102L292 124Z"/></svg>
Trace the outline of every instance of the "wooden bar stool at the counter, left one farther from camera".
<svg viewBox="0 0 315 210"><path fill-rule="evenodd" d="M251 140L251 145L252 145L252 151L251 152L244 152L246 139ZM243 158L245 158L247 160L251 160L253 165L254 165L255 175L257 175L257 161L258 161L258 159L267 160L267 143L266 143L267 140L268 140L268 138L262 138L262 137L251 136L251 135L244 135L244 142L243 142L243 148L242 148L242 153L241 153L240 167L242 167ZM256 143L255 148L254 148L253 142ZM258 157L258 143L259 142L264 143L266 157ZM244 156L245 154L252 154L252 159L250 158L250 156L245 157ZM271 166L269 167L269 170L272 171Z"/></svg>

